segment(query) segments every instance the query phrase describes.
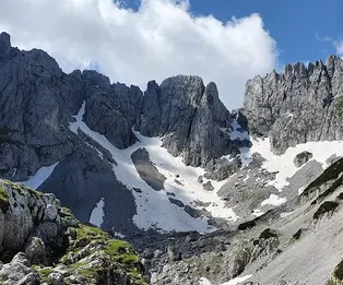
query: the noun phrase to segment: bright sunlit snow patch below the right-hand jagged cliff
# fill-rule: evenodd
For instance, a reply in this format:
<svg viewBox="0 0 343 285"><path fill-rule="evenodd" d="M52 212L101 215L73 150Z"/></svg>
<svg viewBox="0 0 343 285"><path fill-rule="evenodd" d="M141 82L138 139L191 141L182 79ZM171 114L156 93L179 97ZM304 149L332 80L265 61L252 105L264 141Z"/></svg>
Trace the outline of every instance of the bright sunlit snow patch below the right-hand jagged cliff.
<svg viewBox="0 0 343 285"><path fill-rule="evenodd" d="M243 154L247 163L251 162L253 153L259 153L265 162L262 164L262 168L270 173L276 173L275 180L270 181L269 185L274 186L279 191L289 185L288 178L294 176L299 170L294 165L293 159L295 156L304 151L314 154L311 161L317 161L322 164L323 168L327 168L327 159L336 154L343 155L343 142L342 141L322 141L322 142L307 142L298 144L295 147L288 147L282 155L275 155L271 152L270 139L251 140L251 149L247 149L247 152Z"/></svg>

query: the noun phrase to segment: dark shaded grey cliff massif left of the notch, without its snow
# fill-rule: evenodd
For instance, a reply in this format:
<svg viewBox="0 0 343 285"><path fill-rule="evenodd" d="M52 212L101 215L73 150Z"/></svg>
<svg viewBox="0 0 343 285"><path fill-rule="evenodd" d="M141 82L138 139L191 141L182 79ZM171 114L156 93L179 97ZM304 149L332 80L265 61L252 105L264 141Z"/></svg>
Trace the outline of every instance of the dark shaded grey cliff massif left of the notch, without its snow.
<svg viewBox="0 0 343 285"><path fill-rule="evenodd" d="M119 150L138 142L135 130L163 136L163 146L191 166L210 168L237 151L229 138L232 116L214 83L179 75L161 85L150 82L143 95L96 71L66 74L45 51L19 50L0 34L0 178L27 181L58 164L38 190L54 192L83 222L104 198L111 206L105 206L103 226L125 235L138 231L134 198L118 182L114 157L69 129L82 106L86 126Z"/></svg>

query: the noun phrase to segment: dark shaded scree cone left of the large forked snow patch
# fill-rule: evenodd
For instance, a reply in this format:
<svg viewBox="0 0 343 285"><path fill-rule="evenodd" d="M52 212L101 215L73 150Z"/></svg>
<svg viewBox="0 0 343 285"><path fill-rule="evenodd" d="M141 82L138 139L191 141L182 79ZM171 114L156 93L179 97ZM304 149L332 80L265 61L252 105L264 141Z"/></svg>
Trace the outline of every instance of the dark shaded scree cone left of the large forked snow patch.
<svg viewBox="0 0 343 285"><path fill-rule="evenodd" d="M110 162L91 147L81 146L60 162L38 190L55 193L82 222L90 221L96 203L104 199L103 228L123 235L139 231L132 222L137 214L132 193L117 180Z"/></svg>

